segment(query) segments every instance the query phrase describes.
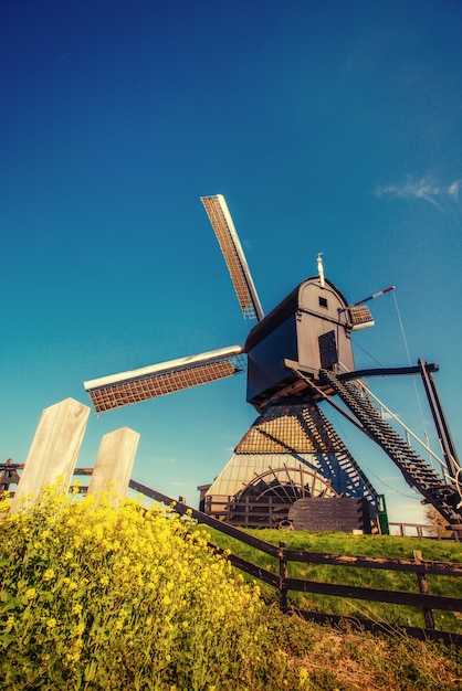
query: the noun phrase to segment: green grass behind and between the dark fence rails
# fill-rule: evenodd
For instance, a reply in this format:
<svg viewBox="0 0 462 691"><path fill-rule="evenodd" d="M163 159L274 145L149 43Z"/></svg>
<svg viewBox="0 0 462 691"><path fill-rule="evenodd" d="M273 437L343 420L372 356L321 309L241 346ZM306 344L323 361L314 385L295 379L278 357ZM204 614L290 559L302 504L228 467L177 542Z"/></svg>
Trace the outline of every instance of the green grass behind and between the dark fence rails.
<svg viewBox="0 0 462 691"><path fill-rule="evenodd" d="M233 554L270 571L279 573L279 561L259 550L239 542L216 530L209 530L211 542ZM456 542L390 535L351 535L346 533L308 533L279 530L249 530L261 540L277 545L284 541L288 549L356 556L379 556L388 559L413 559L413 551L420 550L422 559L435 562L462 562L462 545ZM288 564L288 576L338 583L360 587L418 593L417 574L374 568L311 565L300 562ZM449 576L427 576L429 593L447 597L461 597L461 580ZM266 599L276 599L279 594L271 586L262 584ZM311 593L290 592L290 604L300 609L323 612L340 616L355 616L374 621L388 621L400 626L423 626L421 609L401 605L389 605L359 599L347 599ZM434 612L437 629L462 632L462 615L453 612Z"/></svg>

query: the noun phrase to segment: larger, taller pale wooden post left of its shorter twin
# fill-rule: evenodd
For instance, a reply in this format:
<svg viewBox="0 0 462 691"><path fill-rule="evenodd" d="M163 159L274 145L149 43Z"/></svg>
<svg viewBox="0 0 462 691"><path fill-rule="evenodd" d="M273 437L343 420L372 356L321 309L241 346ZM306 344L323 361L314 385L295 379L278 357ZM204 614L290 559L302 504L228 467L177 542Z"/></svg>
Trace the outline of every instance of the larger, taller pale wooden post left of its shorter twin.
<svg viewBox="0 0 462 691"><path fill-rule="evenodd" d="M46 485L62 478L62 489L67 491L81 449L90 407L66 398L42 412L35 436L25 459L10 511L22 506L21 498L35 500Z"/></svg>

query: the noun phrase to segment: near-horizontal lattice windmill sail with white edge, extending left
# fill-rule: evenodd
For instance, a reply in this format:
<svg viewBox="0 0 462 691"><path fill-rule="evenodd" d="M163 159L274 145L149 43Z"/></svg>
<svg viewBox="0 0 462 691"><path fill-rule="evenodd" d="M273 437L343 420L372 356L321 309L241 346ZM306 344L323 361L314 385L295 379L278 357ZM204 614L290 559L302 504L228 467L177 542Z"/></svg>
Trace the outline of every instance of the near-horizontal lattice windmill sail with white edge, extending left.
<svg viewBox="0 0 462 691"><path fill-rule="evenodd" d="M245 369L240 346L222 348L84 382L96 413L225 379Z"/></svg>

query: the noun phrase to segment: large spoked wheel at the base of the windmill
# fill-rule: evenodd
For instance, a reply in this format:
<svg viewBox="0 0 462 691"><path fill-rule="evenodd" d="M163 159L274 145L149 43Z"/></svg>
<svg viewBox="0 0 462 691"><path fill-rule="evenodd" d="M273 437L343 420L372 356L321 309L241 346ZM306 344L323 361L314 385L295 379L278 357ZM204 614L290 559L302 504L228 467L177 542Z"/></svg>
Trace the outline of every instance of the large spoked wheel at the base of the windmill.
<svg viewBox="0 0 462 691"><path fill-rule="evenodd" d="M234 497L229 507L230 522L243 528L277 528L286 525L288 510L298 499L338 496L316 470L269 467Z"/></svg>

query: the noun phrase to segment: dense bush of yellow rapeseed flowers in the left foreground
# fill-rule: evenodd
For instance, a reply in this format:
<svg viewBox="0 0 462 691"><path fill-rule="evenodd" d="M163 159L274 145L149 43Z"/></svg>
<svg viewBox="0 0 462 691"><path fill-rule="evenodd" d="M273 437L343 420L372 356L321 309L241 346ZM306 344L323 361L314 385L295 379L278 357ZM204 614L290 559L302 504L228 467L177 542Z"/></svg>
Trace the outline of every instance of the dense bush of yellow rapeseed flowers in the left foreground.
<svg viewBox="0 0 462 691"><path fill-rule="evenodd" d="M25 503L1 527L3 689L255 688L265 606L188 517L57 486Z"/></svg>

